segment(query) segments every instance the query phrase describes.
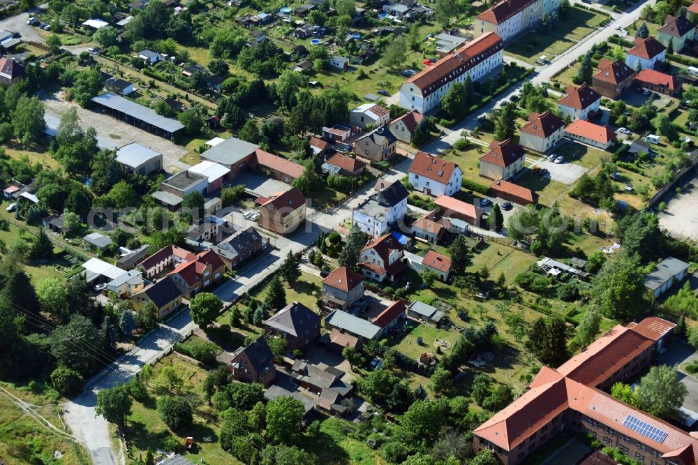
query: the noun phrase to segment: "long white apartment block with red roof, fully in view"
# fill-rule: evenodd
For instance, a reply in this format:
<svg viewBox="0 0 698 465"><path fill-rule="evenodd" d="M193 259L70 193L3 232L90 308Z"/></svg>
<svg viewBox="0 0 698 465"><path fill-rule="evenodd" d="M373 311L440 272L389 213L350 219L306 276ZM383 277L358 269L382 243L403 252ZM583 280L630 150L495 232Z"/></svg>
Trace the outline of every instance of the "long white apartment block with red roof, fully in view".
<svg viewBox="0 0 698 465"><path fill-rule="evenodd" d="M420 71L400 87L400 106L422 115L437 108L454 82L477 81L503 64L504 43L495 33L482 34L470 43Z"/></svg>

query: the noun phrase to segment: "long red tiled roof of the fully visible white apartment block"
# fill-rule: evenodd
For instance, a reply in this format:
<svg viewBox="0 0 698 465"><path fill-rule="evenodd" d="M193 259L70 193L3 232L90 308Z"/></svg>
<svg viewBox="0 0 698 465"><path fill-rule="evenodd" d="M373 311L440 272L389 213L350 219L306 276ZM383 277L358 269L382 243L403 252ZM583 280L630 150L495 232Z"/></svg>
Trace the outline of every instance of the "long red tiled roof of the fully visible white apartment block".
<svg viewBox="0 0 698 465"><path fill-rule="evenodd" d="M446 82L463 75L491 54L502 50L503 47L504 43L500 36L493 32L487 32L463 45L454 53L447 54L432 66L419 71L406 82L414 84L417 89L420 89L422 96L428 96L440 89Z"/></svg>

